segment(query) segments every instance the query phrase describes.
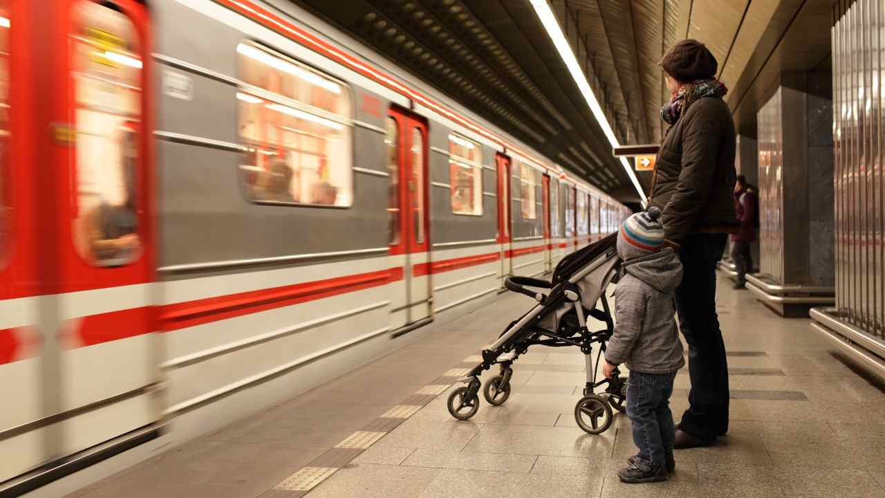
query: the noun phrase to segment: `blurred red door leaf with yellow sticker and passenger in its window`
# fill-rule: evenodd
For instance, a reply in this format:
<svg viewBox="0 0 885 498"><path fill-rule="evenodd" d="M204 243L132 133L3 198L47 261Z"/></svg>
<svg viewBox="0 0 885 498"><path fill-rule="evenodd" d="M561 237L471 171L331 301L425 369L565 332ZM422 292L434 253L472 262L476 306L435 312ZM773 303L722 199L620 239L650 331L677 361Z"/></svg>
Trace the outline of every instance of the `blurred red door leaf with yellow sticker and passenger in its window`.
<svg viewBox="0 0 885 498"><path fill-rule="evenodd" d="M50 121L58 174L41 179L41 192L59 196L47 236L55 237L47 261L58 265L47 278L58 306L50 392L60 393L54 411L63 414L52 449L69 455L158 421L160 338L151 333L148 11L137 0L58 4L61 91Z"/></svg>

